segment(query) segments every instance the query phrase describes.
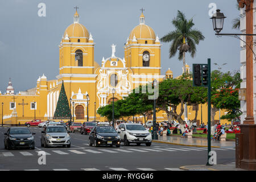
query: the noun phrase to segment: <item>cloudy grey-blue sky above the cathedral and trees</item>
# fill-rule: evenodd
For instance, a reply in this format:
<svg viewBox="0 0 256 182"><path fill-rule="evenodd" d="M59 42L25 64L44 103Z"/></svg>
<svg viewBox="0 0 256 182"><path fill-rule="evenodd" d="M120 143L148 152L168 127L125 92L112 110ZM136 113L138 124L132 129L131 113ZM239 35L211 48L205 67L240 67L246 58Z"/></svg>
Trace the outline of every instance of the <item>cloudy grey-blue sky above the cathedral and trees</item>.
<svg viewBox="0 0 256 182"><path fill-rule="evenodd" d="M38 4L46 3L46 17L38 16ZM240 42L237 39L214 35L209 19L209 4L216 3L228 17L222 32L232 30L232 20L237 18L237 0L9 0L0 1L0 90L5 92L9 77L15 93L34 88L43 73L48 80L59 75L59 43L65 28L73 23L73 7L79 6L80 23L92 32L95 46L95 61L111 56L112 43L117 44L118 57L124 56L123 44L130 31L139 23L139 11L146 11L146 24L151 26L159 38L174 30L171 20L177 10L187 18L194 19L195 28L203 32L204 42L197 46L196 57L188 54L186 62L212 64L228 63L222 71L240 69ZM174 76L182 72L182 62L177 56L169 59L169 44L162 43L162 74L171 68ZM212 68L217 69L212 65Z"/></svg>

